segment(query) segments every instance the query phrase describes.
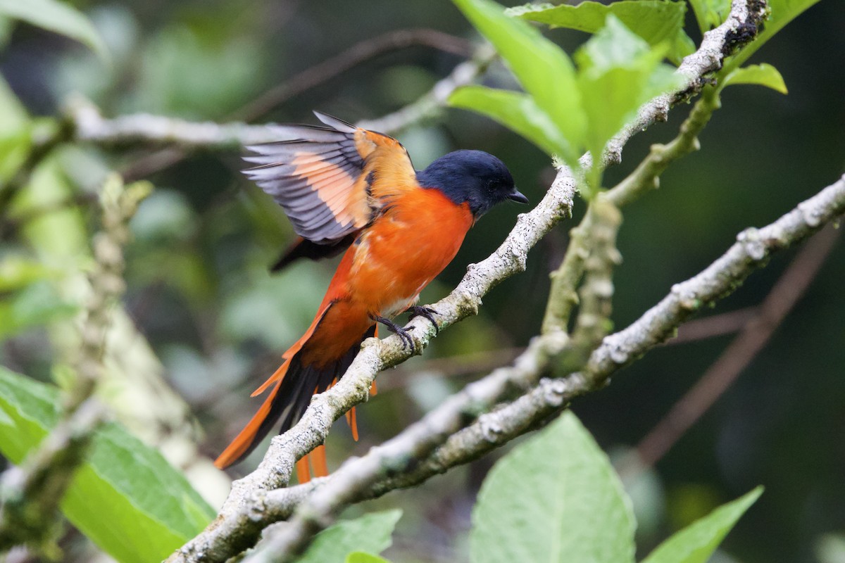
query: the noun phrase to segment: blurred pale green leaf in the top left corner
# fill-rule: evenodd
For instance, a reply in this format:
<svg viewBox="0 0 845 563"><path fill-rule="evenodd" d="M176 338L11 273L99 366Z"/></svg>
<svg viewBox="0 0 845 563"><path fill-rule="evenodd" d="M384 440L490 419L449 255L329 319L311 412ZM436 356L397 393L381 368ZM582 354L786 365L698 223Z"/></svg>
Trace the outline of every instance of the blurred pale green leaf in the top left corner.
<svg viewBox="0 0 845 563"><path fill-rule="evenodd" d="M89 47L104 62L109 60L106 42L90 19L68 3L57 0L0 0L0 14L70 37Z"/></svg>

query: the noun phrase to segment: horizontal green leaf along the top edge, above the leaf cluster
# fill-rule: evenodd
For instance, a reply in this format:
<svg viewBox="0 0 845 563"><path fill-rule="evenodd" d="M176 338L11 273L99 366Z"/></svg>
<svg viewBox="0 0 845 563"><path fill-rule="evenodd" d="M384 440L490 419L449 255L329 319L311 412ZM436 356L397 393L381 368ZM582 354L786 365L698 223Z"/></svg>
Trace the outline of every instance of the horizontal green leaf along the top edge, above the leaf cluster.
<svg viewBox="0 0 845 563"><path fill-rule="evenodd" d="M596 33L601 30L608 14L613 14L649 45L668 45L667 56L676 64L695 51L695 44L684 32L684 16L686 15L684 2L622 0L610 4L587 1L576 6L568 4L532 6L529 4L510 8L507 14L548 24L553 28L565 27L587 33Z"/></svg>

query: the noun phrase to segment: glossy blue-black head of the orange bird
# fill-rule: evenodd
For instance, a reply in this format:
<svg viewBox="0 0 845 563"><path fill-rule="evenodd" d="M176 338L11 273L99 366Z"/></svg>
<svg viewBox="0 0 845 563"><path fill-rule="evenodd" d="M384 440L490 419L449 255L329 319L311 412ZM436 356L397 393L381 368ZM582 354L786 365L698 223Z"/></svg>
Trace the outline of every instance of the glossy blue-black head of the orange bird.
<svg viewBox="0 0 845 563"><path fill-rule="evenodd" d="M504 162L481 150L456 150L441 156L417 172L417 181L422 187L444 192L456 204L469 203L476 219L505 199L528 203L528 198L516 191Z"/></svg>

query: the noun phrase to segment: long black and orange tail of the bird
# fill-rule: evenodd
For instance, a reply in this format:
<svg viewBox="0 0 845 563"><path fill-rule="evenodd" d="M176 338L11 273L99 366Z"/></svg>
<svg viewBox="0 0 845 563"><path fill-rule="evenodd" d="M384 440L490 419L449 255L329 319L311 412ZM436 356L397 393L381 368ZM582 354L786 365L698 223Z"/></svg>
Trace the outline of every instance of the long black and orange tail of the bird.
<svg viewBox="0 0 845 563"><path fill-rule="evenodd" d="M313 333L313 328L315 328L320 317L322 315L319 315L315 319L312 328L305 333L303 338L286 352L284 356L286 360L279 369L253 393L253 396L255 396L272 386L270 394L264 399L264 403L261 404L258 412L249 420L243 430L235 436L235 439L220 454L220 457L217 457L214 463L216 467L221 469L226 468L247 457L264 436L267 436L268 432L275 426L277 420L281 419L280 434L290 429L302 417L305 410L308 409L308 403L311 402L312 395L324 392L337 379L343 376L346 369L352 364L352 360L355 359L363 340L375 335L376 327L373 325L340 358L327 361L319 366L303 365L300 360L300 351L303 344L311 336L311 333ZM357 440L354 412L350 411L346 416L346 420L352 426L352 436ZM324 450L322 448L319 451L315 450L312 457L314 474L318 476L327 474L325 470ZM299 474L300 480L303 480L304 477L303 468L308 467L308 460L304 458L303 460L297 464L297 474Z"/></svg>

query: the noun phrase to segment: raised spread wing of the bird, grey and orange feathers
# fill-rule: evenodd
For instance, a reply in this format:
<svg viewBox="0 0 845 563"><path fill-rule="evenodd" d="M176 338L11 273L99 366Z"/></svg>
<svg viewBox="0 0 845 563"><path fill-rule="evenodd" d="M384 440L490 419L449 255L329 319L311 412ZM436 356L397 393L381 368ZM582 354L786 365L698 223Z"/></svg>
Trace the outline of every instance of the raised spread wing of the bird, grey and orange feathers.
<svg viewBox="0 0 845 563"><path fill-rule="evenodd" d="M362 229L392 196L418 186L395 138L314 112L326 127L275 127L285 140L259 144L244 173L270 194L297 235L333 245Z"/></svg>

